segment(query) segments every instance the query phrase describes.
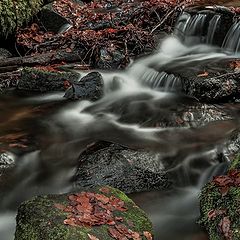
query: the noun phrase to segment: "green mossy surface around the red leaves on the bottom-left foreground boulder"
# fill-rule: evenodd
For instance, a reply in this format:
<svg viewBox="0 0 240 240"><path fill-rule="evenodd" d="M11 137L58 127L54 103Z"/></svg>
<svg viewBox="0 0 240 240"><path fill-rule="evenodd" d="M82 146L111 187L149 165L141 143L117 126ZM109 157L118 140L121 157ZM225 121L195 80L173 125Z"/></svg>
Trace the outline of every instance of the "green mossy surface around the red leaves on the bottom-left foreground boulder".
<svg viewBox="0 0 240 240"><path fill-rule="evenodd" d="M121 225L139 233L142 239L146 240L144 235L152 232L152 224L146 214L123 192L104 187L103 193L102 189L99 187L91 189L90 192L103 194L109 198L113 196L123 201L127 210L115 210L114 217L121 219ZM91 227L64 224L69 212L56 207L59 204L69 206L69 194L39 196L22 203L17 214L15 240L89 240L91 236L100 240L114 239L109 232L109 228L114 228L114 224L99 224Z"/></svg>

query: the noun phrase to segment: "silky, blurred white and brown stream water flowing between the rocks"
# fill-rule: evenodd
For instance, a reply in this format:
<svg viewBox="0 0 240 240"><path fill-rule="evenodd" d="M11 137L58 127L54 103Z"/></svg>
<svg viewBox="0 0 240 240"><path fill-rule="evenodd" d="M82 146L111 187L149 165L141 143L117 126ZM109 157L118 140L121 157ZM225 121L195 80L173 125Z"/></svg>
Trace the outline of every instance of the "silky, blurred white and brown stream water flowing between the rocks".
<svg viewBox="0 0 240 240"><path fill-rule="evenodd" d="M195 26L200 19L204 22L204 16L198 15L191 25ZM105 93L96 102L68 102L62 97L64 93L18 96L10 92L1 96L0 139L7 144L0 147L1 151L11 151L7 152L9 161L0 165L6 168L0 176L1 240L13 239L20 202L39 194L71 191L70 179L79 155L99 140L157 152L161 159L173 159L165 171L174 174L176 168L183 169L181 177L176 176L178 187L132 197L148 212L156 239L207 239L195 224L199 191L209 177L224 172L224 168L215 166L211 160L239 123L231 119L195 128L163 128L157 123L160 116L172 115L195 104L194 99L179 92L180 79L167 71L177 74L183 68L196 68L198 63L232 57L210 46L187 47L176 38L168 38L158 51L133 62L125 71L102 72ZM24 144L27 149L12 150L11 146L16 146L14 139L21 142L23 150ZM28 144L34 145L31 151ZM197 159L204 160L199 168L193 168L192 163ZM193 171L204 175L199 177L198 184L187 179Z"/></svg>

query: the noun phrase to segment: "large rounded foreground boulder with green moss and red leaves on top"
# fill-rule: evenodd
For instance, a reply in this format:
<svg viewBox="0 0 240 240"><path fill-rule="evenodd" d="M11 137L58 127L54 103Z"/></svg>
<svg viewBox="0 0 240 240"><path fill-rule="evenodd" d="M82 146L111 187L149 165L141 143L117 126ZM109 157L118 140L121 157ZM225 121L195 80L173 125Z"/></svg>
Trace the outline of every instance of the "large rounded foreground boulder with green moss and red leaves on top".
<svg viewBox="0 0 240 240"><path fill-rule="evenodd" d="M73 205L68 208L73 209L74 203L78 216L66 209L70 204ZM74 217L80 225L73 226ZM22 203L18 208L15 240L147 240L152 239L151 232L152 224L146 214L123 192L99 187L78 193L39 196ZM114 235L120 238L112 237ZM135 238L126 238L127 235Z"/></svg>

